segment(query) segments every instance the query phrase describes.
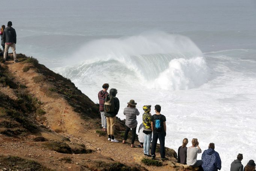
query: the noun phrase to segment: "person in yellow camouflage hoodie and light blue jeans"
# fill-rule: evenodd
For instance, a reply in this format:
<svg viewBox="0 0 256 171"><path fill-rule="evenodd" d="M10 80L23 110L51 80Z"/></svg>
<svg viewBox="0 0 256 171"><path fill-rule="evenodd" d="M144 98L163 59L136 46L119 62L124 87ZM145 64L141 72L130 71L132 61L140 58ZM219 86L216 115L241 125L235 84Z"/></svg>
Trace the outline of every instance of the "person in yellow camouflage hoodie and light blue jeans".
<svg viewBox="0 0 256 171"><path fill-rule="evenodd" d="M143 121L143 133L144 135L144 155L151 157L149 150L150 150L150 143L152 139L152 129L151 129L151 105L145 105L143 106L144 114L142 115L142 121Z"/></svg>

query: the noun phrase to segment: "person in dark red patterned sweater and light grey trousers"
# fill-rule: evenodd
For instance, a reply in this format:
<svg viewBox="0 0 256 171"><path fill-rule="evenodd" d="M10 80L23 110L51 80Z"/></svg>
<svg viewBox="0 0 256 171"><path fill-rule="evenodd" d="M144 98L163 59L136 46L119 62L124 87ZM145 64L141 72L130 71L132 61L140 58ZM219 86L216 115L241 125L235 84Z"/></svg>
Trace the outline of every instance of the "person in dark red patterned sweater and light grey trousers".
<svg viewBox="0 0 256 171"><path fill-rule="evenodd" d="M108 83L103 84L102 88L103 90L99 91L98 93L98 99L99 99L99 112L101 112L101 126L102 126L102 131L107 132L107 118L105 116L104 112L104 103L105 99L108 95Z"/></svg>

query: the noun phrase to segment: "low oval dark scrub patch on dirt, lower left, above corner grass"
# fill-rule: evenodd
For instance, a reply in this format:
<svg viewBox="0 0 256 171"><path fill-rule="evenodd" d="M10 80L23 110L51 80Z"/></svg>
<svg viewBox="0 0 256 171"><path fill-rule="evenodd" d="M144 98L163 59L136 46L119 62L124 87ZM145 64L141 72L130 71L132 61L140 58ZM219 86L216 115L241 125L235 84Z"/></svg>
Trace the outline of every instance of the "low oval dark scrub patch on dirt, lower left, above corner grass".
<svg viewBox="0 0 256 171"><path fill-rule="evenodd" d="M51 141L44 143L43 146L59 153L72 154L71 148L65 142Z"/></svg>

